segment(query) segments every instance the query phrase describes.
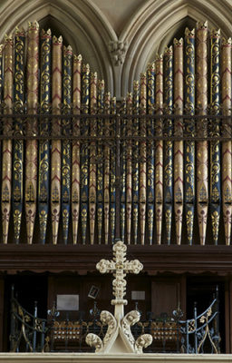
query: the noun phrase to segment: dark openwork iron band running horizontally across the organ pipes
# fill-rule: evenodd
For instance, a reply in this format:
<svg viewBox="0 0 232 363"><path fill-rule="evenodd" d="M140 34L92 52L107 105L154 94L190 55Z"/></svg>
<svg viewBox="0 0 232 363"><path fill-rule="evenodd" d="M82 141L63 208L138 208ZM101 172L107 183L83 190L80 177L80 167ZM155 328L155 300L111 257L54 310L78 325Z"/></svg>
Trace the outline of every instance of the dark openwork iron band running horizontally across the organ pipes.
<svg viewBox="0 0 232 363"><path fill-rule="evenodd" d="M200 111L200 110L199 110ZM87 111L88 112L88 111ZM155 112L155 111L154 111ZM132 122L131 122L132 121ZM141 130L140 122L145 122ZM175 124L181 128L177 131ZM54 128L54 124L59 127ZM101 128L101 132L100 131ZM208 113L205 115L167 113L160 114L125 113L106 108L104 113L75 113L71 108L61 105L23 110L5 109L0 105L0 140L80 140L80 141L230 141L232 116ZM97 134L96 134L97 133Z"/></svg>

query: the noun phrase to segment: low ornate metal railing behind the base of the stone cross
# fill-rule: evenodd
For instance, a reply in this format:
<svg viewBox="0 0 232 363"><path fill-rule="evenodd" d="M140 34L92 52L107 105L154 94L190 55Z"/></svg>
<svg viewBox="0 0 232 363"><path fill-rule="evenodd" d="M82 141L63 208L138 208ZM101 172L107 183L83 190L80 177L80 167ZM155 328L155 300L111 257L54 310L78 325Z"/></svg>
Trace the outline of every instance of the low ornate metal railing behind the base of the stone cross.
<svg viewBox="0 0 232 363"><path fill-rule="evenodd" d="M136 307L136 309L138 309ZM198 315L194 307L194 318L183 320L180 309L173 316L161 314L153 317L147 314L147 319L131 327L134 338L141 334L151 334L153 341L145 353L220 353L220 334L218 324L218 290L215 299L203 313ZM100 319L100 310L96 303L86 316L77 312L77 319L59 318L59 311L49 310L48 319L37 317L37 307L34 315L28 313L12 299L10 350L14 352L92 352L85 338L88 333L94 333L104 338L107 326Z"/></svg>

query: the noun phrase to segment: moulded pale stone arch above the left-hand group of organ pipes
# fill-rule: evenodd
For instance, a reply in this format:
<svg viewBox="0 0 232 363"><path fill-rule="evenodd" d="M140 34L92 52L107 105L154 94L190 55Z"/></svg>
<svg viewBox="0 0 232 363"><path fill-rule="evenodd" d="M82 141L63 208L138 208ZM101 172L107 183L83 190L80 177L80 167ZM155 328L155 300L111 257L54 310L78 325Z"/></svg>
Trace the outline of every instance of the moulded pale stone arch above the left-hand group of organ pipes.
<svg viewBox="0 0 232 363"><path fill-rule="evenodd" d="M15 26L27 29L28 21L46 22L50 16L53 25L65 34L66 43L71 44L75 54L82 54L83 61L91 65L103 78L107 89L113 91L114 79L108 44L117 39L110 23L91 1L79 0L6 0L0 26L4 34L14 33Z"/></svg>

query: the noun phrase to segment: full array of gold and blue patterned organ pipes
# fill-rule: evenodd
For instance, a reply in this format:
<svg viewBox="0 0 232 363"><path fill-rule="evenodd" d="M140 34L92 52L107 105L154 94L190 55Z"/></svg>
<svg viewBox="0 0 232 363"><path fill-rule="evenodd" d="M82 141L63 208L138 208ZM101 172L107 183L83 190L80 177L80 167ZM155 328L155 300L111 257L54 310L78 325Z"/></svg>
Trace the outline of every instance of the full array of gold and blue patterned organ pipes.
<svg viewBox="0 0 232 363"><path fill-rule="evenodd" d="M116 103L63 38L0 47L2 243L231 243L231 39L207 22Z"/></svg>

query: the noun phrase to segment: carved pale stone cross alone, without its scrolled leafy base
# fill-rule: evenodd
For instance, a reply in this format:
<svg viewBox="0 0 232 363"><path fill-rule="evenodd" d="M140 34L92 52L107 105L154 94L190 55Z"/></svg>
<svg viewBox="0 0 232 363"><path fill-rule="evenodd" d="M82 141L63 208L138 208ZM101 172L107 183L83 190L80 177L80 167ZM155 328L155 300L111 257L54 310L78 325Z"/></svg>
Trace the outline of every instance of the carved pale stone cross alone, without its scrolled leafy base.
<svg viewBox="0 0 232 363"><path fill-rule="evenodd" d="M113 273L115 279L112 281L112 293L115 296L115 299L111 300L111 305L123 306L127 305L127 300L123 299L126 294L127 284L124 277L127 273L140 273L143 266L139 260L126 260L127 246L121 240L113 245L112 250L114 256L113 260L101 260L97 263L96 268L101 273ZM121 309L121 312L123 312L123 309Z"/></svg>

